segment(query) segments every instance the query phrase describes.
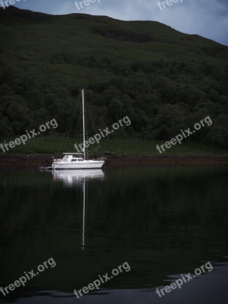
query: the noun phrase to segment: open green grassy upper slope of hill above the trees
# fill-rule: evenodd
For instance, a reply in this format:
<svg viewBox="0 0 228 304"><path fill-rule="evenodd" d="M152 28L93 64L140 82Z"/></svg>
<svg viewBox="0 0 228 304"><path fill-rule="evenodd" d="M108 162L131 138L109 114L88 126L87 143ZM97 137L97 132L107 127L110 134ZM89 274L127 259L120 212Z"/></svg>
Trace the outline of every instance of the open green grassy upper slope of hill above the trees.
<svg viewBox="0 0 228 304"><path fill-rule="evenodd" d="M64 52L75 56L96 55L121 62L159 59L209 61L223 66L227 47L198 35L188 35L154 21L120 21L105 16L69 14L52 16L9 7L0 8L0 47L26 57L31 64L50 68L45 58ZM151 41L140 43L138 41ZM138 42L138 43L136 43ZM55 64L54 77L87 79L111 77L104 70Z"/></svg>

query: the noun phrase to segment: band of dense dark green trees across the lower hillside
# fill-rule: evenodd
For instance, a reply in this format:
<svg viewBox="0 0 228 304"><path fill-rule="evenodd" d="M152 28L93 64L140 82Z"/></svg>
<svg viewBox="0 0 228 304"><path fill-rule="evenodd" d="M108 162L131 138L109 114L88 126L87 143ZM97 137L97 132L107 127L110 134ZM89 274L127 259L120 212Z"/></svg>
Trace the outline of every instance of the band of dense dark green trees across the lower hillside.
<svg viewBox="0 0 228 304"><path fill-rule="evenodd" d="M87 81L83 81L97 128L128 116L132 124L123 128L123 134L166 140L209 116L213 124L201 128L188 140L228 145L227 66L219 71L206 62L197 65L163 59L127 64L107 56L78 57L64 52L44 60L53 65L67 63L113 74L101 80L88 74ZM54 79L51 68L28 65L23 58L9 54L2 60L0 79L1 136L22 134L53 118L58 122L58 132L65 132L82 88L80 77L76 82ZM79 124L80 119L74 118L72 133ZM88 132L93 134L92 125Z"/></svg>

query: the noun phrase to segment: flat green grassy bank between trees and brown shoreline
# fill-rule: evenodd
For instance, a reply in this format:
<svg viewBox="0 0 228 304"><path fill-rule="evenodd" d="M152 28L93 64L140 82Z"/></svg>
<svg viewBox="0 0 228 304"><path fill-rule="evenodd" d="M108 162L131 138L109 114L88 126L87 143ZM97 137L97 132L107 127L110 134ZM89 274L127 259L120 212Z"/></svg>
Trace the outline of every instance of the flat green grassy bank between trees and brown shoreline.
<svg viewBox="0 0 228 304"><path fill-rule="evenodd" d="M16 138L16 137L15 137ZM5 139L7 143L11 140L15 140L15 138L7 138ZM4 139L0 139L0 143L4 143ZM62 142L62 137L50 138L50 137L35 137L30 141L27 141L25 145L20 144L19 146L15 146L14 148L9 148L9 151L3 153L1 149L0 155L53 155L56 156L58 154L59 147ZM67 144L62 144L62 148L59 151L59 155L63 151L65 152L74 152L74 144L75 138L68 138ZM187 143L183 142L182 144L176 144L172 146L170 149L166 149L163 154L160 154L156 149L156 145L164 144L165 141L159 140L140 140L136 138L105 138L101 140L100 145L102 147L103 153L105 151L110 151L116 155L178 155L178 156L221 156L228 155L227 149L216 148L211 146L206 146L201 143ZM65 148L64 148L65 145ZM91 148L95 148L97 145L91 145ZM97 151L98 155L101 154L100 149Z"/></svg>

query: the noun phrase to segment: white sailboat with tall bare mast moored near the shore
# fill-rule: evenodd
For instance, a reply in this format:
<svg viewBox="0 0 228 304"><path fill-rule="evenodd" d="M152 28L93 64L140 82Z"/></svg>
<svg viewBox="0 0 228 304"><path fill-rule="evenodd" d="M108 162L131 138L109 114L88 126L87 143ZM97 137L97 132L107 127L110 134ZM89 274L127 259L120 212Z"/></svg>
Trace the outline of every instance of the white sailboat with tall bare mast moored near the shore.
<svg viewBox="0 0 228 304"><path fill-rule="evenodd" d="M82 153L63 153L62 159L53 159L50 167L40 167L40 169L60 170L60 169L100 169L106 158L101 157L89 160L86 156L85 147L85 90L82 89L82 114L83 114L83 149Z"/></svg>

